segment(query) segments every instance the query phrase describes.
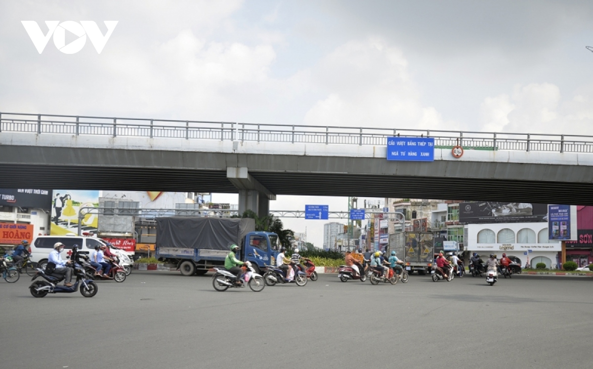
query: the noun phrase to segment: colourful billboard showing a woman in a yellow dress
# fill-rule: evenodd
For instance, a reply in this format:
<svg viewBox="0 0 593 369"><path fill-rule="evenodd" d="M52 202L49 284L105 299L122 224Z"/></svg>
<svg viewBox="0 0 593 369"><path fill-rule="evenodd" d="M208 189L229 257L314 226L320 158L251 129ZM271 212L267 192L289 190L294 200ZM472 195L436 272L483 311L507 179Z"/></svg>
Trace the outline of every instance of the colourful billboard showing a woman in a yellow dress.
<svg viewBox="0 0 593 369"><path fill-rule="evenodd" d="M78 234L78 215L81 208L99 206L98 190L53 190L50 234ZM97 234L98 214L82 210L81 233Z"/></svg>

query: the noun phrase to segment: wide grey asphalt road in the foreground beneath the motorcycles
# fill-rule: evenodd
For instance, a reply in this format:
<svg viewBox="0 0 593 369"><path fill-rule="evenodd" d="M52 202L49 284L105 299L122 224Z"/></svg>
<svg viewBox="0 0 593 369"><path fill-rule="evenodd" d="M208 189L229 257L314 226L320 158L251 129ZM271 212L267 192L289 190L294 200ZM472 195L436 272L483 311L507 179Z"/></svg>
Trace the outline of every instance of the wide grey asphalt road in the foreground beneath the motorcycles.
<svg viewBox="0 0 593 369"><path fill-rule="evenodd" d="M216 292L207 276L133 272L93 298L0 280L0 368L585 368L593 279L340 282Z"/></svg>

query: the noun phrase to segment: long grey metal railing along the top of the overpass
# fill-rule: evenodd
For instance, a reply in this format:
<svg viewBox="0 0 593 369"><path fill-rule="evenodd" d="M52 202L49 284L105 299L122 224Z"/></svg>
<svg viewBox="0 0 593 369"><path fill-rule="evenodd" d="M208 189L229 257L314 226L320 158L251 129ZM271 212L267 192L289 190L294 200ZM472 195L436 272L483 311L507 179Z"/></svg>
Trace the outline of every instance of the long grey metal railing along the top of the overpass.
<svg viewBox="0 0 593 369"><path fill-rule="evenodd" d="M263 125L0 112L1 132L378 146L387 145L390 136L423 136L434 138L437 148L461 145L466 149L497 151L593 153L593 136L582 135Z"/></svg>

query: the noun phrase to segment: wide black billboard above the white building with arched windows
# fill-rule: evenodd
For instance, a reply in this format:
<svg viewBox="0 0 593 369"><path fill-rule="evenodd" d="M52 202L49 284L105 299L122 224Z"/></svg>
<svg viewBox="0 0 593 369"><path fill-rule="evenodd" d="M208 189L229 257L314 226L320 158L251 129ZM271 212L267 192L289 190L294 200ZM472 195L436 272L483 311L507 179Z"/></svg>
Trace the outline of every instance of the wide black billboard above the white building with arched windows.
<svg viewBox="0 0 593 369"><path fill-rule="evenodd" d="M462 202L459 204L461 223L545 222L548 205L527 202Z"/></svg>

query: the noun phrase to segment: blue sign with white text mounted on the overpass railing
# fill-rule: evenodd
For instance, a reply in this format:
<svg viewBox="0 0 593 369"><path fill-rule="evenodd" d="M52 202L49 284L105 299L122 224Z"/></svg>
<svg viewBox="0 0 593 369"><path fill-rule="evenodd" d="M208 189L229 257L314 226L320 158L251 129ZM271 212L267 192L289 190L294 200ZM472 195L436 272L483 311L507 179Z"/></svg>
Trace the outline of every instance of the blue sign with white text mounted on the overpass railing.
<svg viewBox="0 0 593 369"><path fill-rule="evenodd" d="M430 137L388 137L387 160L434 161L435 139Z"/></svg>

